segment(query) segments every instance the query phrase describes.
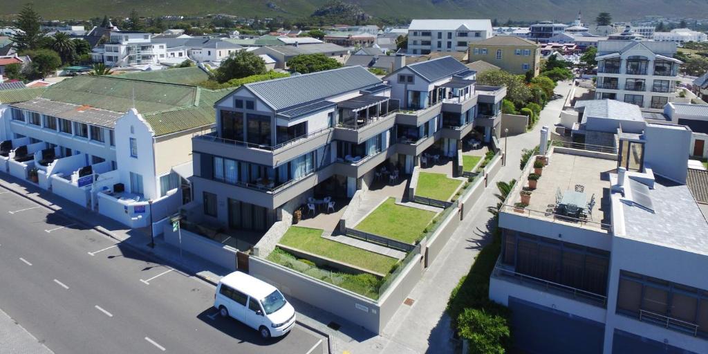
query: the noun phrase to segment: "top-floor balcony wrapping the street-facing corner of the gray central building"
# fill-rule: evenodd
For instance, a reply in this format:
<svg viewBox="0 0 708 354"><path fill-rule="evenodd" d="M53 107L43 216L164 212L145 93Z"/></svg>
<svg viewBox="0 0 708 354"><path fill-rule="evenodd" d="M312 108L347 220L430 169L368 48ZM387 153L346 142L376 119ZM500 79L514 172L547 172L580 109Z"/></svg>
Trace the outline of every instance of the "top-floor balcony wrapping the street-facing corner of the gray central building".
<svg viewBox="0 0 708 354"><path fill-rule="evenodd" d="M195 135L192 139L192 149L194 152L223 156L227 159L275 166L282 161L311 152L331 142L332 139L332 128L318 130L273 146L224 139L219 137L217 132L210 132L205 135Z"/></svg>

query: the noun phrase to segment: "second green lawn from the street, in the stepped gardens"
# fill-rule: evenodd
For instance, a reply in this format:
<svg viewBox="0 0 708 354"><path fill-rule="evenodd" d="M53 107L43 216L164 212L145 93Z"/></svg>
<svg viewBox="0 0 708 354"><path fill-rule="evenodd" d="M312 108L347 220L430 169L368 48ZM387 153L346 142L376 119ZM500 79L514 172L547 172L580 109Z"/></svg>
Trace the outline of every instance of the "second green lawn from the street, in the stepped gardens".
<svg viewBox="0 0 708 354"><path fill-rule="evenodd" d="M389 198L363 219L355 229L413 244L418 241L435 212L396 205Z"/></svg>

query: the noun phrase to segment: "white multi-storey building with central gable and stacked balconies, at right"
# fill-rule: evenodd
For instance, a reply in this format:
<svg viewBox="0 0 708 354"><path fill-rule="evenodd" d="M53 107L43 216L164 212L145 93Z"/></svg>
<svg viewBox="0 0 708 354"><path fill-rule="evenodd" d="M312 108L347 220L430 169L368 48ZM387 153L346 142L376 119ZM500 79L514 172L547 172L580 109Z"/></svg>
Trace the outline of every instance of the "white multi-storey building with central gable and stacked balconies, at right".
<svg viewBox="0 0 708 354"><path fill-rule="evenodd" d="M595 98L663 110L675 98L680 60L673 42L600 40Z"/></svg>

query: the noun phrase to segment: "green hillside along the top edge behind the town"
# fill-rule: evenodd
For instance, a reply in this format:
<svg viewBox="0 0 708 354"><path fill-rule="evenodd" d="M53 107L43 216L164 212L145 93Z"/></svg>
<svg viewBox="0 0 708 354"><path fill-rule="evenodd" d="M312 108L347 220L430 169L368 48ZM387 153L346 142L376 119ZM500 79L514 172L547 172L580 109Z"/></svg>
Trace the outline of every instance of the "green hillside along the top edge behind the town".
<svg viewBox="0 0 708 354"><path fill-rule="evenodd" d="M149 15L206 15L302 18L310 16L328 0L16 0L0 6L0 15L18 13L27 2L45 18L91 18L127 16L136 8ZM569 22L578 10L590 21L600 11L615 20L645 15L686 16L708 13L708 0L353 0L368 14L382 18L498 18L513 20L557 20ZM552 15L550 15L552 14Z"/></svg>

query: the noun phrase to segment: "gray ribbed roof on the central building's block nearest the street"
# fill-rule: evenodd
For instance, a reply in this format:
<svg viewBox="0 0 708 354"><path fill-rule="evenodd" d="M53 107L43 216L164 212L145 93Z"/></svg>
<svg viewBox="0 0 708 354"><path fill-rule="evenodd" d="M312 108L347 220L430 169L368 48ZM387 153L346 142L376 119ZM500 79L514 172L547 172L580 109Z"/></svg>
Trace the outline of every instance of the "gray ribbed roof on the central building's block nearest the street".
<svg viewBox="0 0 708 354"><path fill-rule="evenodd" d="M253 92L274 110L283 110L342 93L367 89L381 82L363 67L341 67L324 72L254 82L244 85L244 88Z"/></svg>

